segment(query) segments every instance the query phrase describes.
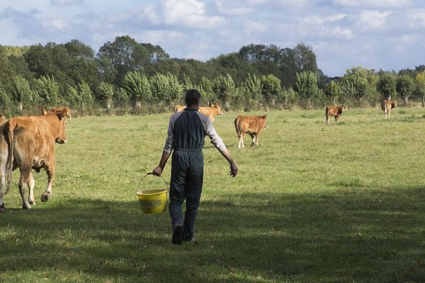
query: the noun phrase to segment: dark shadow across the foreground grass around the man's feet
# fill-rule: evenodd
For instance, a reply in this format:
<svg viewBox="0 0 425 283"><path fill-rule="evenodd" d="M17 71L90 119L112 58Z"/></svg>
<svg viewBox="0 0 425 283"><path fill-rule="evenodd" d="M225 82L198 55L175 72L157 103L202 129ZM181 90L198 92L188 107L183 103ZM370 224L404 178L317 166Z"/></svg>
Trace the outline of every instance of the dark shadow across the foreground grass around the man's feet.
<svg viewBox="0 0 425 283"><path fill-rule="evenodd" d="M229 193L201 201L197 243L173 246L167 212L67 200L0 214L0 271L64 270L128 282L176 274L173 282L421 282L424 204L424 187Z"/></svg>

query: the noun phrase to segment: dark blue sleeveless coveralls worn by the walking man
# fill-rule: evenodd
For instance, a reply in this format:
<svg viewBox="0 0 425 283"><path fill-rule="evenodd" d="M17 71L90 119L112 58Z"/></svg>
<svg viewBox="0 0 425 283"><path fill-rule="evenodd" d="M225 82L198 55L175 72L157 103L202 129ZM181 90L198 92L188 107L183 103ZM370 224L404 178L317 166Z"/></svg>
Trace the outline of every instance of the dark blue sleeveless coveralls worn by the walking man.
<svg viewBox="0 0 425 283"><path fill-rule="evenodd" d="M173 227L176 224L183 226L183 241L190 241L202 192L202 149L207 134L196 109L186 108L183 111L174 122L173 134L169 212ZM184 200L186 213L182 221L181 206Z"/></svg>

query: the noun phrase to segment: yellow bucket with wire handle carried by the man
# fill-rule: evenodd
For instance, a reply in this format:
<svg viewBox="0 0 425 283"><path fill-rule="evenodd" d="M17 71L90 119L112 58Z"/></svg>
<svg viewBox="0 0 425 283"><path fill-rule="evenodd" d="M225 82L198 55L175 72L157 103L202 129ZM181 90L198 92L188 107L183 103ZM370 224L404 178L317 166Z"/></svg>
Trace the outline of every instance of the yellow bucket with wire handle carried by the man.
<svg viewBox="0 0 425 283"><path fill-rule="evenodd" d="M147 173L145 177L147 175L152 175L152 173ZM142 180L145 177L143 177ZM142 180L140 180L140 182L142 182ZM162 178L162 180L164 180L164 178ZM165 211L168 200L168 184L166 183L166 180L164 180L164 182L167 186L166 189L142 190L136 192L137 199L139 200L140 204L142 204L143 213L154 214ZM139 185L137 185L137 189L139 188Z"/></svg>

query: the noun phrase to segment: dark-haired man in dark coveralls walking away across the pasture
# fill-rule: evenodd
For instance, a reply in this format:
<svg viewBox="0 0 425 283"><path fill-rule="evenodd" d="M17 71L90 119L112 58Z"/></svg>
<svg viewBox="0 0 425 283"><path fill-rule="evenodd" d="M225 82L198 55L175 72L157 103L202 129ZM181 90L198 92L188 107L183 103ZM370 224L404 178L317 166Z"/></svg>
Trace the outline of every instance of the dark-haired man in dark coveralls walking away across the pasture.
<svg viewBox="0 0 425 283"><path fill-rule="evenodd" d="M173 226L171 243L180 245L183 241L195 241L193 228L198 213L203 185L203 153L205 136L220 151L230 164L230 175L237 175L237 166L227 152L222 139L215 132L210 118L198 112L200 93L196 89L186 91L186 108L171 115L168 134L159 166L154 175L161 176L171 150L171 183L169 212ZM186 214L182 217L181 206L186 200Z"/></svg>

